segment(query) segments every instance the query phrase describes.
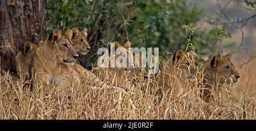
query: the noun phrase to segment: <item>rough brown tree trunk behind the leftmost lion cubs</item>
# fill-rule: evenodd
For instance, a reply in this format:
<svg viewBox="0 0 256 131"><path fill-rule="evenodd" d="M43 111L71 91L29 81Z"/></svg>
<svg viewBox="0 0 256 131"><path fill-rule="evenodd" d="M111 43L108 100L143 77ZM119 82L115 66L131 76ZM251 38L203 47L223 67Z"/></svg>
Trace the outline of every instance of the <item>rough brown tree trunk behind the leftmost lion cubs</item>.
<svg viewBox="0 0 256 131"><path fill-rule="evenodd" d="M0 0L1 70L15 73L15 55L28 40L43 39L46 0Z"/></svg>

